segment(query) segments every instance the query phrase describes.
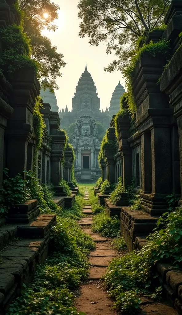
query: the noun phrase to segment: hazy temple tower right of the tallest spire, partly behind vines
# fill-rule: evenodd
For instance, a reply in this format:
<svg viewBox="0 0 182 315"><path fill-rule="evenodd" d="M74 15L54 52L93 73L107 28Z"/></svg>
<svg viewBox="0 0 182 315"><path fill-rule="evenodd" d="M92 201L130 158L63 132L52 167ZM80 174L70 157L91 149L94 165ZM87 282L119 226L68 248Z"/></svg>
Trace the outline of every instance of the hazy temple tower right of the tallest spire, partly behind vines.
<svg viewBox="0 0 182 315"><path fill-rule="evenodd" d="M111 97L111 102L110 102L110 107L109 107L109 114L111 117L113 115L116 115L117 112L120 110L120 97L124 93L125 93L125 90L119 81Z"/></svg>

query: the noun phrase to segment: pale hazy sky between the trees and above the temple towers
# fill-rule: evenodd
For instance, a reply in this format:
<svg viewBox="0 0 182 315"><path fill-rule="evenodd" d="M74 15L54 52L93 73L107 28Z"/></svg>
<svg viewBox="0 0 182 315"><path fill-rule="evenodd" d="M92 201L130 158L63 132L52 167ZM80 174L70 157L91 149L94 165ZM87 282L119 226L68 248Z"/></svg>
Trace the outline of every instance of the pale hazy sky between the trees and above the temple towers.
<svg viewBox="0 0 182 315"><path fill-rule="evenodd" d="M43 35L48 36L53 45L57 46L58 52L64 54L67 62L65 68L61 68L63 77L58 78L59 90L55 91L58 106L62 108L68 106L72 109L72 97L75 93L77 82L85 70L87 64L88 72L95 82L98 96L100 96L100 109L105 111L109 107L112 92L119 80L124 86L124 80L120 72L104 72L104 67L115 59L113 55L106 55L106 45L100 43L98 47L92 47L88 43L88 37L80 38L78 9L79 0L52 0L61 7L59 19L56 24L59 29L55 32L43 31Z"/></svg>

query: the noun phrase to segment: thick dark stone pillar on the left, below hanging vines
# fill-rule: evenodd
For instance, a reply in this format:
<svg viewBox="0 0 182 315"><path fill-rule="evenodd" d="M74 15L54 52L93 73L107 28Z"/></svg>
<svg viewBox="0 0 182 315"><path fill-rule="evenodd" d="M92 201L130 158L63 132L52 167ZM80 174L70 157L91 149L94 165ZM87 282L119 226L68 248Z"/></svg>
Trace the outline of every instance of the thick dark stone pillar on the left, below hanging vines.
<svg viewBox="0 0 182 315"><path fill-rule="evenodd" d="M11 106L13 114L7 124L7 168L14 177L26 170L27 145L33 135L33 108L40 84L33 68L22 68L14 73Z"/></svg>

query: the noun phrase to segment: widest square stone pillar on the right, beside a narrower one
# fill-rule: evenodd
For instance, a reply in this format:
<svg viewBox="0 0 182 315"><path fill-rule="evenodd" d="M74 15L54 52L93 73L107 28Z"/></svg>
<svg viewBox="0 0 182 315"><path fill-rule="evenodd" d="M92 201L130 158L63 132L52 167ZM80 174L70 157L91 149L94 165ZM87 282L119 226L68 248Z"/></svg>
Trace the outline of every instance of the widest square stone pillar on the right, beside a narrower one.
<svg viewBox="0 0 182 315"><path fill-rule="evenodd" d="M170 129L151 129L152 195L171 193Z"/></svg>

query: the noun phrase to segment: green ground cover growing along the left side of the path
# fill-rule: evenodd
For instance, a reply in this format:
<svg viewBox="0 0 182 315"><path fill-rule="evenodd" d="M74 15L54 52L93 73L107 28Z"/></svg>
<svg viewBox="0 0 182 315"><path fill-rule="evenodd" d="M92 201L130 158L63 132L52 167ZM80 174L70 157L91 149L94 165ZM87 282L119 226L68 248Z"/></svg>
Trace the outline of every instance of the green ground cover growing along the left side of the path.
<svg viewBox="0 0 182 315"><path fill-rule="evenodd" d="M57 215L57 224L51 229L51 255L10 305L7 315L85 315L73 305L72 289L88 276L88 254L95 245L82 232L76 220L82 217L82 188L73 208Z"/></svg>

